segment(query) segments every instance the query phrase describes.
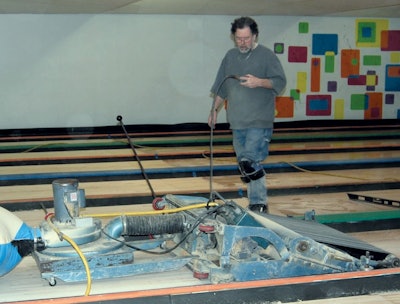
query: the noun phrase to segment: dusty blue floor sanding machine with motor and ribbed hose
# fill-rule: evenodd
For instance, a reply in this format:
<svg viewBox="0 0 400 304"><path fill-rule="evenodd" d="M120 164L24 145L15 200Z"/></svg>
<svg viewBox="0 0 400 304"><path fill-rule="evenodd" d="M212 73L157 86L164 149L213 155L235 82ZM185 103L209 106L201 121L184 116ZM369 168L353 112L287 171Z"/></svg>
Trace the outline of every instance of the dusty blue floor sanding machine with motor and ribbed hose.
<svg viewBox="0 0 400 304"><path fill-rule="evenodd" d="M398 267L399 259L316 222L261 215L214 193L216 202L165 195L153 212L81 215L78 181L53 182L54 214L29 241L41 277L80 282L178 270L211 283ZM160 210L161 209L161 210ZM290 228L288 228L290 227ZM320 233L319 240L297 231Z"/></svg>

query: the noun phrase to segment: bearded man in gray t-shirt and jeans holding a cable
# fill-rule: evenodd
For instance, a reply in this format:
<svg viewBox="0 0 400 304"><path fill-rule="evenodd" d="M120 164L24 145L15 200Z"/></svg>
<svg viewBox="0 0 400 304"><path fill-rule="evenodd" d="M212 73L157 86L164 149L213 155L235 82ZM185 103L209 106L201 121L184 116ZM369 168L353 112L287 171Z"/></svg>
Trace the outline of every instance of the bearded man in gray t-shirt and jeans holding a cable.
<svg viewBox="0 0 400 304"><path fill-rule="evenodd" d="M252 18L235 19L231 34L236 47L226 53L211 88L214 102L208 124L215 127L226 100L241 179L247 183L249 209L268 213L262 162L268 156L272 137L275 97L285 88L286 76L277 56L257 43L258 26Z"/></svg>

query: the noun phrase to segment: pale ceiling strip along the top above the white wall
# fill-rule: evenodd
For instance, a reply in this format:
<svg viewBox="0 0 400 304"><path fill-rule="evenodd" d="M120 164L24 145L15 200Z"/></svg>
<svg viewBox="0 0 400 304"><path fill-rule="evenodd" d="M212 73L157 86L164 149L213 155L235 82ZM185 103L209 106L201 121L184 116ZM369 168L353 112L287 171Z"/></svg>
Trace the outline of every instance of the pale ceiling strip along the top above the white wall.
<svg viewBox="0 0 400 304"><path fill-rule="evenodd" d="M400 0L0 0L2 14L400 17Z"/></svg>

